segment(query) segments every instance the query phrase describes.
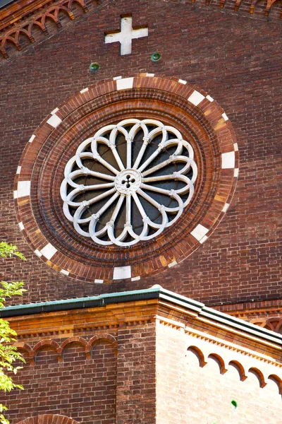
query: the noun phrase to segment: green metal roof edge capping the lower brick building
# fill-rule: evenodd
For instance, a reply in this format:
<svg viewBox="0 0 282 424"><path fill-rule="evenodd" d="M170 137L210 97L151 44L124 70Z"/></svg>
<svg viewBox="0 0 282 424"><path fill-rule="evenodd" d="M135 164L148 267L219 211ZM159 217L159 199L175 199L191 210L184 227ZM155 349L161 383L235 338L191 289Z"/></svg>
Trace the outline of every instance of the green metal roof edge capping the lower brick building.
<svg viewBox="0 0 282 424"><path fill-rule="evenodd" d="M225 314L224 312L206 307L204 303L186 298L183 295L178 295L177 293L161 288L161 286L158 285L143 290L106 293L103 295L91 296L89 298L74 298L51 302L29 303L27 305L13 305L1 309L0 316L1 318L17 317L20 315L40 314L42 312L77 310L90 307L101 307L119 302L152 299L161 299L166 302L174 303L178 306L196 312L198 317L208 320L209 322L219 323L221 325L237 329L238 331L243 331L243 333L245 332L252 336L263 338L271 343L277 343L282 347L282 334L274 333L274 331L264 329L263 327L252 324L251 322L247 322L243 319Z"/></svg>

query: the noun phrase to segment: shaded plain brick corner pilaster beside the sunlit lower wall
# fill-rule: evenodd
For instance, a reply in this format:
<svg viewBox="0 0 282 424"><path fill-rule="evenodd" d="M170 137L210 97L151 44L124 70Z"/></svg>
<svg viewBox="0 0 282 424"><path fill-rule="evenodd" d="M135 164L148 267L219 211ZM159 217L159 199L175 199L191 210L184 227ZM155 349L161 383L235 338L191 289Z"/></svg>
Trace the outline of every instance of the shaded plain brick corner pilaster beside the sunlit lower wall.
<svg viewBox="0 0 282 424"><path fill-rule="evenodd" d="M156 416L155 324L118 331L116 424L152 424Z"/></svg>

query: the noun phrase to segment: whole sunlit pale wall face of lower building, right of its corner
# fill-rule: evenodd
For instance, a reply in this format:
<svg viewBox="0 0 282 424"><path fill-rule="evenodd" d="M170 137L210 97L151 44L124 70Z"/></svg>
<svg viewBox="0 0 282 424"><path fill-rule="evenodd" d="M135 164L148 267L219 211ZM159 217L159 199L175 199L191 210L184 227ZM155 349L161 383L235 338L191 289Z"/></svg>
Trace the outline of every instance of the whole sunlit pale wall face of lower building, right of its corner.
<svg viewBox="0 0 282 424"><path fill-rule="evenodd" d="M157 424L280 424L275 367L199 339L157 326Z"/></svg>

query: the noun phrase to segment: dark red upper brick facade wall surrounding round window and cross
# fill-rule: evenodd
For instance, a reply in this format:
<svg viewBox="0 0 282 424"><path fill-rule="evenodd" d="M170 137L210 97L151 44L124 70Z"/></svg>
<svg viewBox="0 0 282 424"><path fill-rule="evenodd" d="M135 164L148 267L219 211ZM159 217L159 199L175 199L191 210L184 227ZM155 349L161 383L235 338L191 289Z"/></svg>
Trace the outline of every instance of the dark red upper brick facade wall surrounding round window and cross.
<svg viewBox="0 0 282 424"><path fill-rule="evenodd" d="M149 37L133 40L133 54L104 45L104 31L133 13ZM175 2L111 1L93 7L51 38L0 64L2 240L15 242L27 262L5 261L6 279L22 278L20 302L54 300L161 283L207 304L281 298L281 25L250 16ZM150 55L160 51L153 63ZM90 73L91 61L100 64ZM30 251L16 223L13 181L25 143L47 114L95 81L140 71L183 78L219 102L240 151L238 187L216 232L183 263L154 278L111 285L61 276Z"/></svg>

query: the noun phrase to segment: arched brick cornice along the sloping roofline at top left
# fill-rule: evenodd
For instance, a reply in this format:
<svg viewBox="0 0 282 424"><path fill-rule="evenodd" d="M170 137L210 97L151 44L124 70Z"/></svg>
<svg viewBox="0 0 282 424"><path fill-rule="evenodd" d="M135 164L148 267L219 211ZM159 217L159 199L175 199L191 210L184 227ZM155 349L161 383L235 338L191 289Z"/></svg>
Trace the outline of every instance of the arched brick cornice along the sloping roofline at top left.
<svg viewBox="0 0 282 424"><path fill-rule="evenodd" d="M0 52L8 59L7 43L12 43L18 50L22 49L20 37L26 36L30 42L35 42L32 30L40 28L44 35L48 35L47 19L61 27L60 13L67 13L71 20L75 19L73 4L77 3L84 12L88 11L85 0L41 0L32 2L22 0L12 4L0 12Z"/></svg>

